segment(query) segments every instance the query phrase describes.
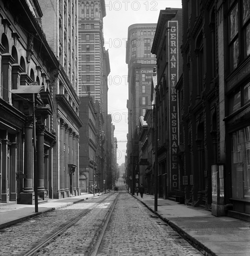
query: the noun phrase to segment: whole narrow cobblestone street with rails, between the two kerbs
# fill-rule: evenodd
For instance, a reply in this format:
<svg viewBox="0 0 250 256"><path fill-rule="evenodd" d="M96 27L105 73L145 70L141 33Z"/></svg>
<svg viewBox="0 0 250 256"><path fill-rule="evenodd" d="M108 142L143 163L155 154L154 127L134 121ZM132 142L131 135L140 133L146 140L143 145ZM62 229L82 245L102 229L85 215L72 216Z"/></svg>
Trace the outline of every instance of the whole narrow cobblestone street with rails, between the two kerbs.
<svg viewBox="0 0 250 256"><path fill-rule="evenodd" d="M128 194L123 179L118 180L117 187L116 193L96 196L1 229L0 255L201 255L141 202ZM115 205L112 211L113 203ZM76 223L46 242L43 247L30 252L86 210L89 212ZM108 214L111 216L105 230ZM99 246L97 241L101 238ZM94 250L97 253L93 253Z"/></svg>

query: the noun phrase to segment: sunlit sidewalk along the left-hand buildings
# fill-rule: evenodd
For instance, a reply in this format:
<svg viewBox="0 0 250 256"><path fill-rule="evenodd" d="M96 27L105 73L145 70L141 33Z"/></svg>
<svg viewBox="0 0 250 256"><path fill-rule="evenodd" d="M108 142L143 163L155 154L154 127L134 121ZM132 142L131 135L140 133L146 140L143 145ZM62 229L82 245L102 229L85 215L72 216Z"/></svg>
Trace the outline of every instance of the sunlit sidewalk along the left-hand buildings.
<svg viewBox="0 0 250 256"><path fill-rule="evenodd" d="M0 203L0 229L23 220L40 215L44 212L59 209L76 202L80 202L93 197L93 194L83 193L82 195L72 196L62 199L48 199L46 203L38 205L38 212L35 212L35 205L30 204L4 204Z"/></svg>

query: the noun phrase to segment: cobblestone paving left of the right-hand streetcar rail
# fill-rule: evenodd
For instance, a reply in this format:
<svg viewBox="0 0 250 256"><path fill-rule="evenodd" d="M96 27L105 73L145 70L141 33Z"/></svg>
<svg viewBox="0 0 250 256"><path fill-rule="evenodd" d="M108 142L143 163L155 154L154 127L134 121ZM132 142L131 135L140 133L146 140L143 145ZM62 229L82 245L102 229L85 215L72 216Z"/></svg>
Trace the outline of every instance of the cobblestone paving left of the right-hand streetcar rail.
<svg viewBox="0 0 250 256"><path fill-rule="evenodd" d="M99 196L91 200L72 204L68 207L53 210L31 218L28 221L1 229L0 255L25 255L27 251L37 246L38 243L41 243L60 228L66 226L70 220L79 216L84 210L97 207L92 210L90 214L87 214L85 218L82 219L81 223L77 223L77 225L72 227L77 231L76 233L74 233L72 229L68 229L61 235L61 237L64 237L63 241L57 239L55 241L59 241L59 243L52 243L53 252L50 246L48 249L42 250L39 253L39 255L79 255L76 254L76 251L79 249L82 253L83 248L88 248L92 243L92 238L96 235L96 232L98 232L97 228L103 222L105 216L104 212L107 212L107 209L100 207L103 203L99 204L99 202L105 197L106 196ZM111 201L108 201L108 203L113 201L113 197L109 199ZM66 248L68 250L66 250Z"/></svg>

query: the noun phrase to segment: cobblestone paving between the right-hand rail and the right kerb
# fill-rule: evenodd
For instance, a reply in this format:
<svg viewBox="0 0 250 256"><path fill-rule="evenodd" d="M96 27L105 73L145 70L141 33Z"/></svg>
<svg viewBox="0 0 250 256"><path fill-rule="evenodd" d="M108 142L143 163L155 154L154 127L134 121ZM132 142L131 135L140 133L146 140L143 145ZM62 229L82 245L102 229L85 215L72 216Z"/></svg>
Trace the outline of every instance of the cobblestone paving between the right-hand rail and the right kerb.
<svg viewBox="0 0 250 256"><path fill-rule="evenodd" d="M121 193L99 256L202 255L132 195Z"/></svg>

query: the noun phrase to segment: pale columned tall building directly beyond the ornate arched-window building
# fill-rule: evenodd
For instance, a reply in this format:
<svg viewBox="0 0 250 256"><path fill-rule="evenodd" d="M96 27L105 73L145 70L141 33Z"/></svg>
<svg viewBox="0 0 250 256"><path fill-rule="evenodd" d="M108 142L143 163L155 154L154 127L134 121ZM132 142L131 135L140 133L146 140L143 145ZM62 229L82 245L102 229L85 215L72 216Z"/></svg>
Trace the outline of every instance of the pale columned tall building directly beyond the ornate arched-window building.
<svg viewBox="0 0 250 256"><path fill-rule="evenodd" d="M59 60L53 83L56 145L53 151L53 196L79 195L78 1L39 0L46 39Z"/></svg>

